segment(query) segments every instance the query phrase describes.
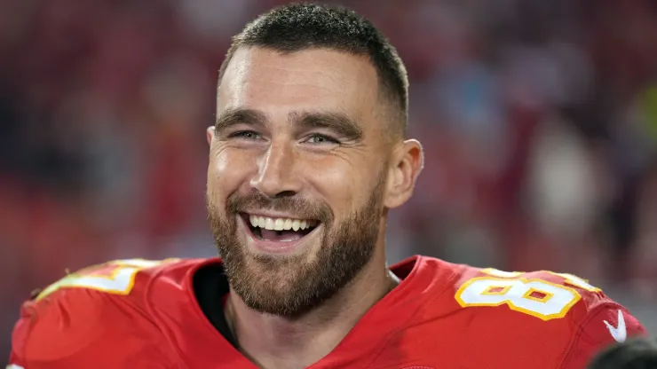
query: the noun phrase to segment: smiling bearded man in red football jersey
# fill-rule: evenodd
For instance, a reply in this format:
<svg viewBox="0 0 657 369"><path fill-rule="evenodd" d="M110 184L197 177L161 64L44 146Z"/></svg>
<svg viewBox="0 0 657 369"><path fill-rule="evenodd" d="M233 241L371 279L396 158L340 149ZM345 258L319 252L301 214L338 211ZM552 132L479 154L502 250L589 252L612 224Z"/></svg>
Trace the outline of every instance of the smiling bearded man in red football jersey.
<svg viewBox="0 0 657 369"><path fill-rule="evenodd" d="M388 210L423 166L407 95L396 51L354 12L295 4L250 23L207 131L222 259L61 279L23 307L13 367L577 368L644 334L571 275L386 266Z"/></svg>

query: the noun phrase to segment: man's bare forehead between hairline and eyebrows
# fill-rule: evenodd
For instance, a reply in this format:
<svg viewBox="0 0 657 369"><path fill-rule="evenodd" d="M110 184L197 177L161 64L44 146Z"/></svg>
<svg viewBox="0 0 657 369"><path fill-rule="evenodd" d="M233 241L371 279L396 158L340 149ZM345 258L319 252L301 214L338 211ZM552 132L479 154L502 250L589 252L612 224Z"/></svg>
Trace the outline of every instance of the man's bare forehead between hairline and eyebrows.
<svg viewBox="0 0 657 369"><path fill-rule="evenodd" d="M272 116L335 110L367 119L376 108L376 70L366 57L311 49L235 51L218 89L218 112L249 107Z"/></svg>

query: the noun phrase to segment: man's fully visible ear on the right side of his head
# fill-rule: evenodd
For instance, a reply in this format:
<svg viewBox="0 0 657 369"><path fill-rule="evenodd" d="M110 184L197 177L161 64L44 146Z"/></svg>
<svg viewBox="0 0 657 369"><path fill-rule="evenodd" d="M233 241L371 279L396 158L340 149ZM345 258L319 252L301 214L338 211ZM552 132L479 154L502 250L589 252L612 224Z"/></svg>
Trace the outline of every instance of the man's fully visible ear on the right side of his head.
<svg viewBox="0 0 657 369"><path fill-rule="evenodd" d="M389 165L384 204L386 208L397 208L410 199L423 169L424 153L420 142L408 139L398 145Z"/></svg>

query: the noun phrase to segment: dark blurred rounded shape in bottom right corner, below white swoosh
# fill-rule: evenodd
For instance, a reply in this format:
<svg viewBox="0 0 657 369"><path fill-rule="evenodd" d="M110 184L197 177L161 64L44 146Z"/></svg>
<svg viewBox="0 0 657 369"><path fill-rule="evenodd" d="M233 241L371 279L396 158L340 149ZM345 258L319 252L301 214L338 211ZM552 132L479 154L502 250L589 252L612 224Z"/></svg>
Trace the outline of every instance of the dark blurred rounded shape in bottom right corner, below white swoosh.
<svg viewBox="0 0 657 369"><path fill-rule="evenodd" d="M617 343L600 352L589 369L654 369L657 368L657 342L635 338Z"/></svg>

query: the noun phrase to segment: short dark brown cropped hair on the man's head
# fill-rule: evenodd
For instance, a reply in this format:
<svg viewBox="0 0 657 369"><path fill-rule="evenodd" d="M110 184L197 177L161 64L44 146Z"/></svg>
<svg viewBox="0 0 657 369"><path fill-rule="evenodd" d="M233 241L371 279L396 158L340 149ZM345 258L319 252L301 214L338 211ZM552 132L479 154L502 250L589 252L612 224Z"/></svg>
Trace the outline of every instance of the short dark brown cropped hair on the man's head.
<svg viewBox="0 0 657 369"><path fill-rule="evenodd" d="M233 43L219 69L219 82L234 52L256 46L282 53L327 48L367 56L376 68L379 90L392 105L393 130L404 135L408 121L408 75L397 51L366 18L344 6L288 4L250 22Z"/></svg>

